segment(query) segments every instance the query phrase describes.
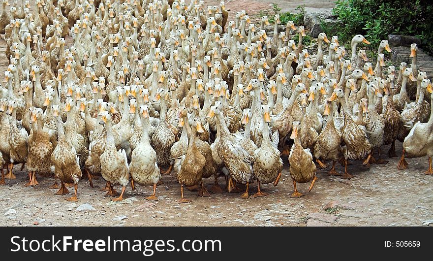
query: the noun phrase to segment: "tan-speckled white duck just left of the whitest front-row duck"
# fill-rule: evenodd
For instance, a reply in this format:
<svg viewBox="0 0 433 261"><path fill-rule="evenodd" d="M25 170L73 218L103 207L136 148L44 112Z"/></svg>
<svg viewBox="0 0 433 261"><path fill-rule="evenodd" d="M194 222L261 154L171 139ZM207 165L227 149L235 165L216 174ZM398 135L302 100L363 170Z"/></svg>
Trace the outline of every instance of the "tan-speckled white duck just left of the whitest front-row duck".
<svg viewBox="0 0 433 261"><path fill-rule="evenodd" d="M112 187L112 184L120 184L122 185L122 193L119 197L112 198L112 200L122 201L124 200L126 186L129 184L129 165L126 152L123 149L116 149L111 117L107 111L102 112L99 124L105 125L107 132L105 150L99 157L102 177L108 182L108 192L105 196L119 195Z"/></svg>

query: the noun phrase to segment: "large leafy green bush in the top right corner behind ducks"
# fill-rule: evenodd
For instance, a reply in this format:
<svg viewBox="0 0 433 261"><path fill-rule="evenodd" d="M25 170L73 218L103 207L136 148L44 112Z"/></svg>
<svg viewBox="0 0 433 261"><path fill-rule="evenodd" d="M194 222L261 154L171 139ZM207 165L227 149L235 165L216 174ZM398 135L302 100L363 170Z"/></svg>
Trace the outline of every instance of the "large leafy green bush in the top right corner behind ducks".
<svg viewBox="0 0 433 261"><path fill-rule="evenodd" d="M376 48L388 34L416 35L422 48L433 54L433 23L430 20L433 4L428 1L394 0L338 0L333 14L338 23L322 23L328 35L338 35L349 41L355 34L363 34Z"/></svg>

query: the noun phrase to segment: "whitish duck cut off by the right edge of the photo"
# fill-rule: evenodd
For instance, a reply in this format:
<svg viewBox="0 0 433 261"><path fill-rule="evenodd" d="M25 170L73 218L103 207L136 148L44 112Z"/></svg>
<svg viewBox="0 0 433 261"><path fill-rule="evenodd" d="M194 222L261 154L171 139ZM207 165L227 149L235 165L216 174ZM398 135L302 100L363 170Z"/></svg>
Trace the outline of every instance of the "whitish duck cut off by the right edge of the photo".
<svg viewBox="0 0 433 261"><path fill-rule="evenodd" d="M427 91L431 94L432 102L433 102L433 89L432 84L429 79L424 79L422 81L423 86ZM424 87L423 87L424 88ZM421 92L421 96L423 96L423 92ZM431 106L433 108L433 104ZM405 154L409 157L423 157L429 156L429 169L424 173L427 175L433 175L432 168L432 128L433 128L433 113L430 114L430 118L428 122L421 123L421 121L417 121L413 128L410 130L409 134L404 138L403 141L403 153L402 158L398 164L398 169L406 169L407 162L404 159Z"/></svg>

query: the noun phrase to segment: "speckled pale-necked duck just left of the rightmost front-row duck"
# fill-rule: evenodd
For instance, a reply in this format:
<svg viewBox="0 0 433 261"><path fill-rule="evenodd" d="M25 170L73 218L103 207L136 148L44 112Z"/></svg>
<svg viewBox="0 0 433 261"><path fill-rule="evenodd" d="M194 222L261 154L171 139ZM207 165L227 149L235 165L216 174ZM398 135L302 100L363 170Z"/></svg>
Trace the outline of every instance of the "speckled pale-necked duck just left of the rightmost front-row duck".
<svg viewBox="0 0 433 261"><path fill-rule="evenodd" d="M268 105L262 105L263 113L263 138L260 148L254 151L254 163L252 169L254 177L257 179L257 193L253 197L267 196L267 193L260 191L260 184L273 182L278 184L281 177L283 162L281 153L278 150L278 131L272 135L272 140L269 138L269 126L271 122L270 108Z"/></svg>

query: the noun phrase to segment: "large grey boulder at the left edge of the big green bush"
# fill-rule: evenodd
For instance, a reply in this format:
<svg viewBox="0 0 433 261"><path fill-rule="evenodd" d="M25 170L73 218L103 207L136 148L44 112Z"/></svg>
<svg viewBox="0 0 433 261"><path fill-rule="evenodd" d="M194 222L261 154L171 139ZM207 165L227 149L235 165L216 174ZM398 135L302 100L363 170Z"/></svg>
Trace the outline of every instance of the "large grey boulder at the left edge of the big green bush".
<svg viewBox="0 0 433 261"><path fill-rule="evenodd" d="M320 23L337 23L336 17L332 14L332 8L305 7L304 10L304 26L309 29L309 35L313 38L317 38L319 33L323 32Z"/></svg>

